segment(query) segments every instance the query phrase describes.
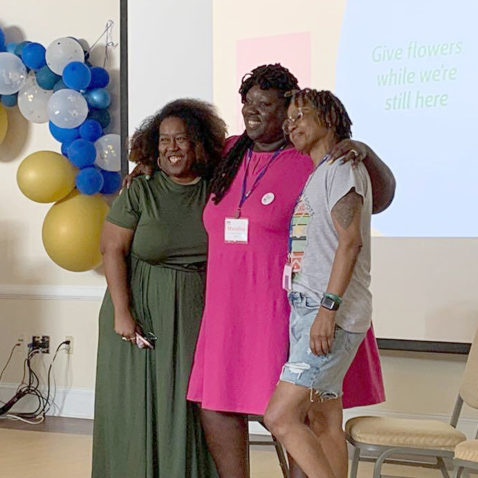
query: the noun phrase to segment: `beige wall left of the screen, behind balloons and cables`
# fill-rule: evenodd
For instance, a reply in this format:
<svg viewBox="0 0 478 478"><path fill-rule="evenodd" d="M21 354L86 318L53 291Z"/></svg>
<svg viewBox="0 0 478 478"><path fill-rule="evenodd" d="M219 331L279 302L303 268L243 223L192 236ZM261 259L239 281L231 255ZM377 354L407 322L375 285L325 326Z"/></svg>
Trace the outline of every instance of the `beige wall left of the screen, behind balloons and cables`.
<svg viewBox="0 0 478 478"><path fill-rule="evenodd" d="M48 46L58 37L73 36L92 45L113 20L113 41L120 39L119 0L65 3L42 0L25 3L7 1L0 26L7 41L24 39ZM104 38L91 53L91 62L102 66ZM118 73L119 47L110 50L107 70L111 75L115 119L108 132L119 132ZM104 288L100 272L71 273L56 266L42 246L42 223L50 204L27 199L17 187L16 173L21 160L35 151L59 151L59 143L48 131L48 124L26 121L17 108L8 109L10 122L6 140L0 145L0 364L8 358L19 334L50 335L53 350L73 335L73 356L59 354L55 376L60 387L93 390L99 296ZM30 298L28 298L30 297ZM53 298L48 298L53 297ZM78 297L76 300L68 297ZM37 360L40 370L52 354ZM24 353L16 351L3 383L19 383ZM43 362L43 363L42 363ZM42 374L44 376L44 374ZM6 391L0 392L1 398ZM9 398L9 397L8 397Z"/></svg>

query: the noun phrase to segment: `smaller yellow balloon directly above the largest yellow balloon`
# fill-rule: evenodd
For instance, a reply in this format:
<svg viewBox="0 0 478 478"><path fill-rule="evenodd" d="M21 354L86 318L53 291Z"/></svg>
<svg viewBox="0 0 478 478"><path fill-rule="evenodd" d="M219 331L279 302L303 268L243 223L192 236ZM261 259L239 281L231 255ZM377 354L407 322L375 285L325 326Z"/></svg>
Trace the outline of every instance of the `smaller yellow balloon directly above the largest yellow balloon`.
<svg viewBox="0 0 478 478"><path fill-rule="evenodd" d="M28 199L37 203L54 203L73 190L77 172L62 154L37 151L21 161L17 183Z"/></svg>

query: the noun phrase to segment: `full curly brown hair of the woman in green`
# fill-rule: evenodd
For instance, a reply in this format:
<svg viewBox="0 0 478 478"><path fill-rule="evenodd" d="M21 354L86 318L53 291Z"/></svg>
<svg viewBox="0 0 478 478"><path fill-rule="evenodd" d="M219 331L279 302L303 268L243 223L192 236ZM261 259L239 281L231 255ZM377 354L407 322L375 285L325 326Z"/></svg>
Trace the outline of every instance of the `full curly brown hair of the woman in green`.
<svg viewBox="0 0 478 478"><path fill-rule="evenodd" d="M183 120L186 125L187 138L196 156L192 172L211 177L221 160L226 123L219 118L212 104L201 100L175 100L146 118L131 138L129 160L158 169L159 127L163 120L171 117Z"/></svg>

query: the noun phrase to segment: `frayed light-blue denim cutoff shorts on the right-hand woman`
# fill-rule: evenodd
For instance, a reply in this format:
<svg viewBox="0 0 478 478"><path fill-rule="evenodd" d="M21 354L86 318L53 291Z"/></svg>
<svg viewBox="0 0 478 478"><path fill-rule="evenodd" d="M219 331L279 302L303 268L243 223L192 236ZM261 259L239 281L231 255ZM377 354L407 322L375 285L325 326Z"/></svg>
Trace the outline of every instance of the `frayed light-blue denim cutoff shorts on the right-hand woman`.
<svg viewBox="0 0 478 478"><path fill-rule="evenodd" d="M331 351L317 356L310 344L311 326L318 313L317 300L300 292L290 292L289 358L282 368L280 380L311 390L320 401L342 396L342 382L365 332L348 332L335 325Z"/></svg>

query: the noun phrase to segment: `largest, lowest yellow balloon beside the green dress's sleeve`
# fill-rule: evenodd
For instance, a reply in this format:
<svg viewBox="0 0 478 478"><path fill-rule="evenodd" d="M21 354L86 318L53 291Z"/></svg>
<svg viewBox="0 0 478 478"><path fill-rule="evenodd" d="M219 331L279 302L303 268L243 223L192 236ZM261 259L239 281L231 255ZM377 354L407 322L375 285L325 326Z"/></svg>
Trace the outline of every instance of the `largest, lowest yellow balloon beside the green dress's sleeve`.
<svg viewBox="0 0 478 478"><path fill-rule="evenodd" d="M101 264L100 235L109 205L99 195L77 190L54 204L46 214L42 239L58 266L82 272Z"/></svg>

